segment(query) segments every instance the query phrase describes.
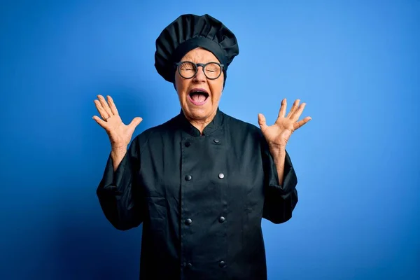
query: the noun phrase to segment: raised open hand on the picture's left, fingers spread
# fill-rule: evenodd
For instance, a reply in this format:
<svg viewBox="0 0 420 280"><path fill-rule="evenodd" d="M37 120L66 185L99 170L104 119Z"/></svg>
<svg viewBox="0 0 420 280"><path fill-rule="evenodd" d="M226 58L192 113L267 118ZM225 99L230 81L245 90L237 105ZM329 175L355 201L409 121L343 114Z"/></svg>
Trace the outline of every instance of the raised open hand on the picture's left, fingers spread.
<svg viewBox="0 0 420 280"><path fill-rule="evenodd" d="M102 95L97 96L98 99L94 100L94 104L99 112L98 116L93 116L93 119L104 128L106 134L111 141L112 151L127 151L127 146L130 144L132 135L137 125L143 120L140 117L134 118L129 125L125 125L118 115L116 104L113 99L108 95L106 102Z"/></svg>

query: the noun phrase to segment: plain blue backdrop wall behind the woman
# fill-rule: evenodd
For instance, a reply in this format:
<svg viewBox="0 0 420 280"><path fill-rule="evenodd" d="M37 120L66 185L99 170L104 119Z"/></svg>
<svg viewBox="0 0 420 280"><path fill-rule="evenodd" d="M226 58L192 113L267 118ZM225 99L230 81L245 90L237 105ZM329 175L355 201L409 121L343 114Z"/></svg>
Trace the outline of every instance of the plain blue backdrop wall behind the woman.
<svg viewBox="0 0 420 280"><path fill-rule="evenodd" d="M144 2L1 1L0 279L138 279L141 227L97 201L93 100L144 118L134 134L179 113L153 54L182 13L237 35L222 111L312 117L288 144L294 216L263 221L269 279L420 279L420 1Z"/></svg>

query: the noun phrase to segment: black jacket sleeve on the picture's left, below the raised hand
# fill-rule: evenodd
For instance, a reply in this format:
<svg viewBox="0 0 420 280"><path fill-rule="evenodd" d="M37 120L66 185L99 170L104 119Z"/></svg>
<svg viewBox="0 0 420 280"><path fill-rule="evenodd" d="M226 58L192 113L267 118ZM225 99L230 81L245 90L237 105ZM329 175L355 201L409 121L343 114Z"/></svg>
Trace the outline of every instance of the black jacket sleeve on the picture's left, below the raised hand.
<svg viewBox="0 0 420 280"><path fill-rule="evenodd" d="M139 169L139 145L132 141L125 157L113 171L111 154L102 180L97 187L97 197L108 221L118 230L130 230L143 221L137 172Z"/></svg>

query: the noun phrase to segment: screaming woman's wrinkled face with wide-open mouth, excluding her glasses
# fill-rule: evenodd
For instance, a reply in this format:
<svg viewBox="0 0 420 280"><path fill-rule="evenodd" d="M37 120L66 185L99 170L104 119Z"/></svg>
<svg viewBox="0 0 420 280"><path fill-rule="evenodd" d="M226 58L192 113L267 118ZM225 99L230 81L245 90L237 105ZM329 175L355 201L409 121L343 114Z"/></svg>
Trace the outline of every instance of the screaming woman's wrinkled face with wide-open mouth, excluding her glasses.
<svg viewBox="0 0 420 280"><path fill-rule="evenodd" d="M212 52L203 48L190 50L181 61L220 63ZM198 66L197 74L186 79L180 76L177 70L175 85L179 102L188 120L209 122L214 118L223 90L223 72L216 80L210 80L204 75L202 66Z"/></svg>

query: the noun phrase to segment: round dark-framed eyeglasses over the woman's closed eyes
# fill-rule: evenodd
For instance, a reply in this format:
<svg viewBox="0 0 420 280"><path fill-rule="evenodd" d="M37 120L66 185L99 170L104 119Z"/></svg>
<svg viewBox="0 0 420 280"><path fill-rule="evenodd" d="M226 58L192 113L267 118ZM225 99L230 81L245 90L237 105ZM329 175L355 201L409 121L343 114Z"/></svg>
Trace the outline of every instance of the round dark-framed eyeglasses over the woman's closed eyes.
<svg viewBox="0 0 420 280"><path fill-rule="evenodd" d="M202 66L204 75L209 80L215 80L221 76L224 65L217 62L209 62L206 64L194 62L178 62L175 64L175 66L178 68L179 75L186 79L193 78L198 72L198 66Z"/></svg>

